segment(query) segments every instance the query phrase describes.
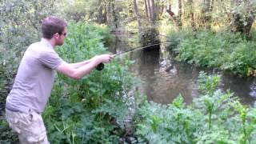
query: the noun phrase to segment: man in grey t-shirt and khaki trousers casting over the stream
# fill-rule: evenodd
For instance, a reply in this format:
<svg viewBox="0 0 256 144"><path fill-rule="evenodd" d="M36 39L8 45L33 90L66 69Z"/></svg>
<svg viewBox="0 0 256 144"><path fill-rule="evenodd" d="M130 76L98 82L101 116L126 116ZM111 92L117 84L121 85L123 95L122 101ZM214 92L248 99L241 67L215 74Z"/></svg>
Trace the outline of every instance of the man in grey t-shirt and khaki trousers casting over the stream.
<svg viewBox="0 0 256 144"><path fill-rule="evenodd" d="M18 133L20 143L49 143L41 113L54 85L55 70L80 79L98 64L114 58L102 54L84 62L64 62L54 48L64 43L66 34L66 22L56 17L44 19L41 42L28 47L18 67L14 86L6 98L6 120Z"/></svg>

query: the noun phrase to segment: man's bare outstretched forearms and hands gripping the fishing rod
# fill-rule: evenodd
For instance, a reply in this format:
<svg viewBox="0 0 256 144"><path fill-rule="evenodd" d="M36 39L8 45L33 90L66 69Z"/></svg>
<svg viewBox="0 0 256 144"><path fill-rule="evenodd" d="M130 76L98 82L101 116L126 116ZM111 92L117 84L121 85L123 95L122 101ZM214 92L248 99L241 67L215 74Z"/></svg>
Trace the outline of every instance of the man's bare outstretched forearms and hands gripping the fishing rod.
<svg viewBox="0 0 256 144"><path fill-rule="evenodd" d="M66 76L73 79L80 79L86 74L89 74L91 70L94 70L95 66L98 66L100 63L108 63L110 59L114 58L109 54L102 54L91 58L88 62L78 62L75 64L78 67L74 67L74 64L68 64L63 62L60 66L58 66L55 70L59 73L65 74Z"/></svg>

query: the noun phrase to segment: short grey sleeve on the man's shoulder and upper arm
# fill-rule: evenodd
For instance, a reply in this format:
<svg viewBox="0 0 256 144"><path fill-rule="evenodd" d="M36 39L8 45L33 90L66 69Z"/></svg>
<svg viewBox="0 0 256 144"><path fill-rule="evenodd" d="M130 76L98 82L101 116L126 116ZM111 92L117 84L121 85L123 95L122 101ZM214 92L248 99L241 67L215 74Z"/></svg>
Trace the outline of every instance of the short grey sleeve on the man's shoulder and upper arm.
<svg viewBox="0 0 256 144"><path fill-rule="evenodd" d="M51 69L55 69L63 62L62 58L60 58L55 51L46 51L40 54L38 60Z"/></svg>

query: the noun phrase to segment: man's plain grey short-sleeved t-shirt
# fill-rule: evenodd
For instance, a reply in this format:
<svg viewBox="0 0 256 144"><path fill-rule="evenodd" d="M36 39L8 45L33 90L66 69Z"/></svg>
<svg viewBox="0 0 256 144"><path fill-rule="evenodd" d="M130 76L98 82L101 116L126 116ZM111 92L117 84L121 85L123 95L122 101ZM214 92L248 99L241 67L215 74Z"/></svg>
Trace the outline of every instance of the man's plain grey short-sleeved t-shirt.
<svg viewBox="0 0 256 144"><path fill-rule="evenodd" d="M26 50L14 86L6 98L6 108L42 113L54 85L55 68L62 62L46 39L33 43Z"/></svg>

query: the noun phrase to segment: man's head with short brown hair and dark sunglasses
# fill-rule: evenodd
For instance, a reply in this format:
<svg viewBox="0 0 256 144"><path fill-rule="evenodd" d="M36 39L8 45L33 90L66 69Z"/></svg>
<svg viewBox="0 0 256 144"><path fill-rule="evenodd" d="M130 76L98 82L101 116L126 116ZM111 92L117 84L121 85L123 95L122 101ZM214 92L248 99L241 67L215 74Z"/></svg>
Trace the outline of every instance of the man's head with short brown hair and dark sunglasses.
<svg viewBox="0 0 256 144"><path fill-rule="evenodd" d="M55 45L60 46L66 37L66 22L60 18L50 16L42 21L42 37L54 39Z"/></svg>

